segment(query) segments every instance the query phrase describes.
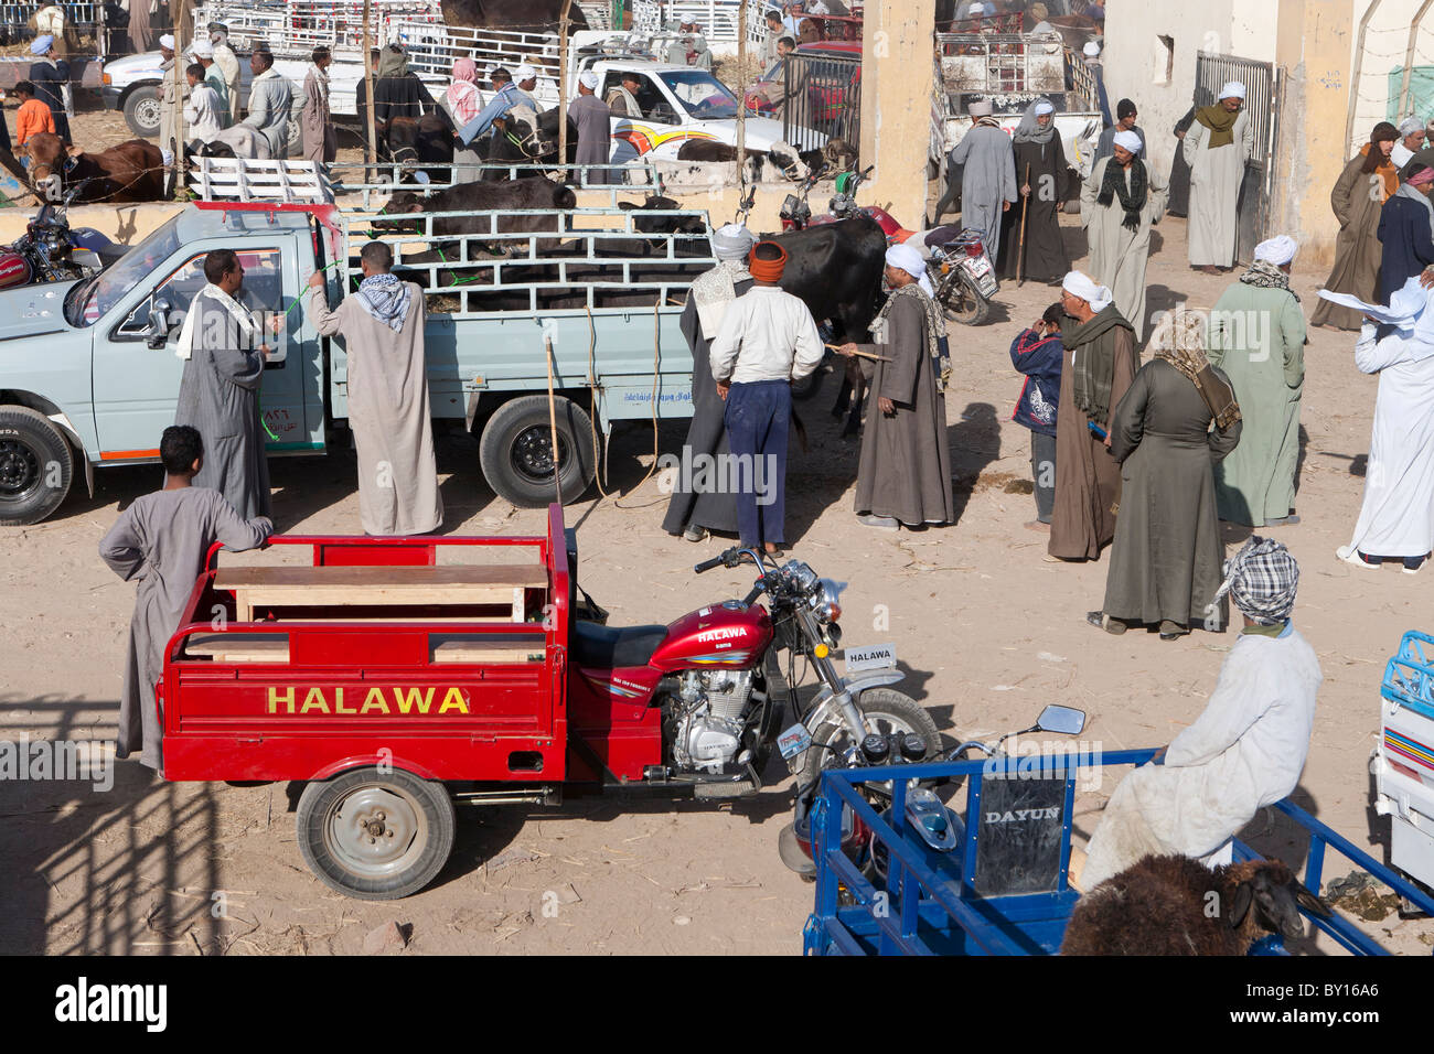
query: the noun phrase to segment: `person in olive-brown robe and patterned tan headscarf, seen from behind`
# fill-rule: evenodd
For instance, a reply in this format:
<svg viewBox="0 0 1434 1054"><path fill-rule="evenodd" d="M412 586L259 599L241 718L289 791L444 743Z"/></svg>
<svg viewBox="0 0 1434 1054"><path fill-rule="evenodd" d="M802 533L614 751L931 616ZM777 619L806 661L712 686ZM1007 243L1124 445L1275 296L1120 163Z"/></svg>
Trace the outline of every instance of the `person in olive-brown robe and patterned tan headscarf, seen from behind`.
<svg viewBox="0 0 1434 1054"><path fill-rule="evenodd" d="M1229 379L1205 357L1202 314L1167 313L1150 347L1156 357L1136 373L1111 420L1120 518L1106 601L1086 618L1114 634L1159 627L1163 641L1196 625L1225 632L1225 605L1207 608L1225 558L1213 465L1240 442L1240 409Z"/></svg>

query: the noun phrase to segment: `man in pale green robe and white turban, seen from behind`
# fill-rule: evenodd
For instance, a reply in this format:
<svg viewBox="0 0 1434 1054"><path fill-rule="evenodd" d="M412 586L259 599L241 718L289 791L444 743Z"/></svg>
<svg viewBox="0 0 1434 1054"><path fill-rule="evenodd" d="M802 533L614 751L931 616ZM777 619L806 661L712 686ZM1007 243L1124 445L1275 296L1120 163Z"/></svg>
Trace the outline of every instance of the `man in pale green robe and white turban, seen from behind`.
<svg viewBox="0 0 1434 1054"><path fill-rule="evenodd" d="M1305 313L1289 288L1299 245L1279 235L1255 247L1255 262L1210 311L1209 360L1235 387L1245 430L1215 466L1220 519L1245 526L1298 523L1295 467L1305 390Z"/></svg>

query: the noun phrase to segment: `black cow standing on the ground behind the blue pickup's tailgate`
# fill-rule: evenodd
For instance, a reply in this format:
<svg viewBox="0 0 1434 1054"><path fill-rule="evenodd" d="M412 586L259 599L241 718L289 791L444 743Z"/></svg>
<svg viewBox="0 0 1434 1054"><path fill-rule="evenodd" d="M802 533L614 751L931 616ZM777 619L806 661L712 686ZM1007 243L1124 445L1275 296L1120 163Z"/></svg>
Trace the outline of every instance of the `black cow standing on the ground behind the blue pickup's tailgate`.
<svg viewBox="0 0 1434 1054"><path fill-rule="evenodd" d="M870 217L856 217L790 231L773 241L787 251L782 288L802 300L813 318L830 318L836 324L832 343L870 341L886 268L886 232L880 225ZM860 427L865 387L860 369L847 369L832 407L832 414L839 417L842 402L852 394L843 436Z"/></svg>

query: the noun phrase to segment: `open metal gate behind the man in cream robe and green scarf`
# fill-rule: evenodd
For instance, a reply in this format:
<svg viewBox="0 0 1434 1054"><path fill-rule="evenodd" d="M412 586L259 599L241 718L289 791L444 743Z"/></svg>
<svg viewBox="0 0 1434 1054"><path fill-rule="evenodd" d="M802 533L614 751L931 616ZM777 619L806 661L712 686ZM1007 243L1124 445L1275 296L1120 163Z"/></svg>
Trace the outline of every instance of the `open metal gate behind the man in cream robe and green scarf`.
<svg viewBox="0 0 1434 1054"><path fill-rule="evenodd" d="M1255 258L1255 245L1269 237L1273 222L1275 149L1285 85L1273 63L1199 52L1195 56L1196 109L1217 102L1220 87L1230 80L1245 85L1245 112L1255 126L1255 151L1245 165L1235 229L1235 258L1249 262Z"/></svg>

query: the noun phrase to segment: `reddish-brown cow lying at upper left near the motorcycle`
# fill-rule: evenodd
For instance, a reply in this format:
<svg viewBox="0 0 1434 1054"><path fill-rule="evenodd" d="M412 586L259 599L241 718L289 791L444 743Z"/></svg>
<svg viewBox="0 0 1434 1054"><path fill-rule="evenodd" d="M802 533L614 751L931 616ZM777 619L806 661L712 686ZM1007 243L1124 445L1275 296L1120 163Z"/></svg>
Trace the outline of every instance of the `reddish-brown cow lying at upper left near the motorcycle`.
<svg viewBox="0 0 1434 1054"><path fill-rule="evenodd" d="M99 153L66 148L57 135L37 132L20 148L30 159L30 184L40 198L59 201L66 186L76 189L76 205L161 201L165 196L165 161L159 148L143 139L110 146Z"/></svg>

